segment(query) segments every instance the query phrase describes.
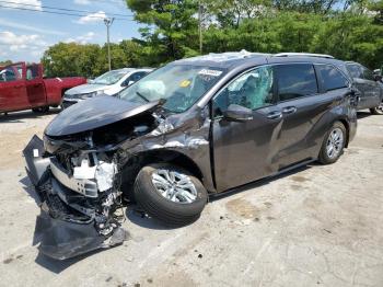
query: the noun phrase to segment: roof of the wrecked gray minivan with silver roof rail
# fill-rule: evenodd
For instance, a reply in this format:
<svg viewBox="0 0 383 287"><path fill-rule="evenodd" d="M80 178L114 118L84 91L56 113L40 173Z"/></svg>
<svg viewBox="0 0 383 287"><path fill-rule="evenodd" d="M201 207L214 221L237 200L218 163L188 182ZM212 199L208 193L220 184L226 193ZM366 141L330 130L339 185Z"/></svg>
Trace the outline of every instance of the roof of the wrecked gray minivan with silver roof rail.
<svg viewBox="0 0 383 287"><path fill-rule="evenodd" d="M321 54L299 54L299 53L282 53L282 54L263 54L249 53L246 50L230 51L221 54L208 54L193 58L186 58L174 61L174 65L194 65L208 66L221 69L240 68L241 66L257 66L263 64L283 64L283 62L317 62L317 64L333 64L340 66L341 60L332 58L329 55Z"/></svg>

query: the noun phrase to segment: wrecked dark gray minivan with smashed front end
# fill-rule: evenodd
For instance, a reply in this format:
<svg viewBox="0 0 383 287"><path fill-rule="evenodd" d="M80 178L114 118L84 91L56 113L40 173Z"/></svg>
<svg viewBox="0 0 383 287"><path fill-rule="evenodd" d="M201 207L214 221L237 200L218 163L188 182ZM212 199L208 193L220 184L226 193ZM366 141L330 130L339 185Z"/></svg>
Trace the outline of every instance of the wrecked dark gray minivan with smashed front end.
<svg viewBox="0 0 383 287"><path fill-rule="evenodd" d="M229 53L178 60L60 113L24 150L43 208L40 250L65 259L124 241L115 211L196 220L208 194L318 160L357 128L343 61Z"/></svg>

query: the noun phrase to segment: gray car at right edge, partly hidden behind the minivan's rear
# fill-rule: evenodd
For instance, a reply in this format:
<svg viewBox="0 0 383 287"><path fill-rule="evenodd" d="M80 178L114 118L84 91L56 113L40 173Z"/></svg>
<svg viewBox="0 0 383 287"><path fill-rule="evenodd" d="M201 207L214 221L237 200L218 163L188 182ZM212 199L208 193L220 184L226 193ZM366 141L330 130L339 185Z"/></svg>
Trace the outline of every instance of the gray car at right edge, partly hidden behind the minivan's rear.
<svg viewBox="0 0 383 287"><path fill-rule="evenodd" d="M346 62L352 82L360 91L358 110L369 108L372 114L383 115L382 76L355 61Z"/></svg>

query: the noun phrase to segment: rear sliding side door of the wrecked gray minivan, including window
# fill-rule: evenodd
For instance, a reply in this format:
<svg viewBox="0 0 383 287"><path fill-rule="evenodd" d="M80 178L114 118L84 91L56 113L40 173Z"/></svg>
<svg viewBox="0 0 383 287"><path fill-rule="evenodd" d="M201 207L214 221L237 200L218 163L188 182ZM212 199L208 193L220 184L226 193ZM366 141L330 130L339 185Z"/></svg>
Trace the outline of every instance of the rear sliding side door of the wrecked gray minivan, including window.
<svg viewBox="0 0 383 287"><path fill-rule="evenodd" d="M316 122L328 110L328 101L318 94L313 64L276 65L278 107L282 112L278 140L278 169L311 158Z"/></svg>

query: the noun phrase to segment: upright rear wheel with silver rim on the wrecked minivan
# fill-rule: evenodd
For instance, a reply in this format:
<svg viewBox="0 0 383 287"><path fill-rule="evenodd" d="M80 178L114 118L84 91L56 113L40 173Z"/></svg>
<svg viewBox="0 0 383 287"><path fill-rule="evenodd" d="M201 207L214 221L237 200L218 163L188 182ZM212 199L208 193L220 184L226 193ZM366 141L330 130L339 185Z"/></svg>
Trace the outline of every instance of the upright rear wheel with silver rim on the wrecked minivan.
<svg viewBox="0 0 383 287"><path fill-rule="evenodd" d="M340 122L335 122L332 128L327 131L322 144L318 161L322 164L330 164L336 162L346 145L346 127Z"/></svg>

